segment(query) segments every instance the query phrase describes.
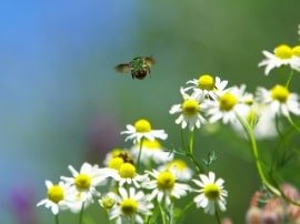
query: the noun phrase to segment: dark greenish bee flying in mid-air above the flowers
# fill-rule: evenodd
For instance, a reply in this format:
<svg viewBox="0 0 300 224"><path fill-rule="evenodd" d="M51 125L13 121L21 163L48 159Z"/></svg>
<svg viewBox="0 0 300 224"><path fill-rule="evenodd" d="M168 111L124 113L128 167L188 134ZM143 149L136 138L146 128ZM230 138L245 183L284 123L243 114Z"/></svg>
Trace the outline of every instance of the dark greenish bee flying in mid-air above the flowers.
<svg viewBox="0 0 300 224"><path fill-rule="evenodd" d="M118 64L116 70L118 72L130 72L132 79L144 79L150 75L151 67L154 64L152 57L137 57L129 63Z"/></svg>

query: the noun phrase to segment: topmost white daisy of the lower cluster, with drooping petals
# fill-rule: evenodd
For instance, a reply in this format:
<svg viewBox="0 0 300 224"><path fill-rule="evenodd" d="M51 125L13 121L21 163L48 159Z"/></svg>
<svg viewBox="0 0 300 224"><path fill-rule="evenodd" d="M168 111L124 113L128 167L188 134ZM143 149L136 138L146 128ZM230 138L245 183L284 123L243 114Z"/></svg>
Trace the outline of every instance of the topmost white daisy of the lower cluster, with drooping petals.
<svg viewBox="0 0 300 224"><path fill-rule="evenodd" d="M133 140L133 143L140 142L141 139L153 141L154 139L166 140L168 134L163 130L152 130L149 121L144 119L138 120L134 125L128 124L127 131L121 134L127 134L126 141Z"/></svg>

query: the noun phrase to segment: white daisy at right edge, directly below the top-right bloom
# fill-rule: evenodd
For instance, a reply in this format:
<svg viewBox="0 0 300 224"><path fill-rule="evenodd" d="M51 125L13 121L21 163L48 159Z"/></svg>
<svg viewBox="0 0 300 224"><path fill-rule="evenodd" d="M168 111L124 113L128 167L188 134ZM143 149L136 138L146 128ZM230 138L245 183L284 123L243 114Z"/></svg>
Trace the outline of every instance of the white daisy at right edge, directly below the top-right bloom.
<svg viewBox="0 0 300 224"><path fill-rule="evenodd" d="M269 108L270 115L283 115L289 118L290 113L300 115L299 96L283 85L276 85L271 90L258 88L257 98L260 103Z"/></svg>

